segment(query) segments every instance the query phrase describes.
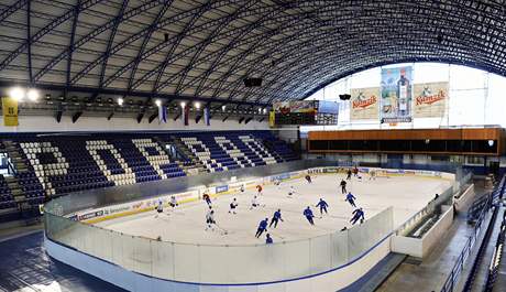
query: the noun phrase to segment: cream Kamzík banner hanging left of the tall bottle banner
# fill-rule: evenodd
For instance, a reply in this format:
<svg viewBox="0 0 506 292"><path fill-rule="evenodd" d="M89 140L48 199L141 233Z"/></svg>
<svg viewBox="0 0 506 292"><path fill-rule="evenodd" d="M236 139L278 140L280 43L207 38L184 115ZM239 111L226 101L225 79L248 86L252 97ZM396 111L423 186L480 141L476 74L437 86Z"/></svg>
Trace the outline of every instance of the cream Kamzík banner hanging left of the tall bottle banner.
<svg viewBox="0 0 506 292"><path fill-rule="evenodd" d="M380 107L380 87L351 89L350 119L377 119Z"/></svg>

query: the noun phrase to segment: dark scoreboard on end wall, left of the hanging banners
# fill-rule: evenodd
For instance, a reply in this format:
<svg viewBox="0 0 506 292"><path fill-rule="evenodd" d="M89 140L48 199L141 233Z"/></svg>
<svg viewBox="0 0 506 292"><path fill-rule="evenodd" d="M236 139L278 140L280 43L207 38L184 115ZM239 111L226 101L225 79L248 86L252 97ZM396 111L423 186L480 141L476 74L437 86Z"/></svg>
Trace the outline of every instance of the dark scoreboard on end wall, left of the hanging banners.
<svg viewBox="0 0 506 292"><path fill-rule="evenodd" d="M323 100L282 101L273 105L271 127L285 125L338 125L339 104Z"/></svg>

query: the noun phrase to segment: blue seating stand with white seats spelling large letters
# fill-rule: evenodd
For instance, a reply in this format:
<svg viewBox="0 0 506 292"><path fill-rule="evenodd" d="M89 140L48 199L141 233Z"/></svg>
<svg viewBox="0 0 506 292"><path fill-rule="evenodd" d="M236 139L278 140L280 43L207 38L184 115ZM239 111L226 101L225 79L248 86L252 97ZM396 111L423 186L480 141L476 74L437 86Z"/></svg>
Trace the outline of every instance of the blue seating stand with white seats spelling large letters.
<svg viewBox="0 0 506 292"><path fill-rule="evenodd" d="M6 137L0 140L2 151L12 159L16 173L9 182L0 175L0 208L4 209L20 204L35 207L73 192L198 174L188 171L197 165L204 165L207 172L219 172L295 158L268 131ZM268 148L265 141L280 147ZM169 156L174 154L166 147L177 151L187 148L179 152L194 155L197 163L188 156Z"/></svg>

